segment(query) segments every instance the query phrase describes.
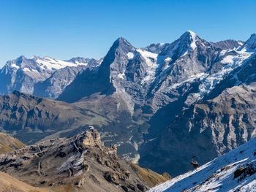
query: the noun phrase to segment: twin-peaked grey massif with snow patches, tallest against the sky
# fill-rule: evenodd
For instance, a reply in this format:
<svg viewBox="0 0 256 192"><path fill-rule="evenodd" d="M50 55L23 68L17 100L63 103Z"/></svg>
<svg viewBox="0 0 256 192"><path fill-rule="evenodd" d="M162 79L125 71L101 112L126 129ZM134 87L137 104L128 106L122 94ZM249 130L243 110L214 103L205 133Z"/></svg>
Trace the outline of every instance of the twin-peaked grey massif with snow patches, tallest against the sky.
<svg viewBox="0 0 256 192"><path fill-rule="evenodd" d="M146 48L135 48L126 39L119 38L105 56L102 66L99 66L99 69L94 72L80 74L78 80L74 81L59 99L69 102L78 101L91 93L100 92L98 89L92 88L90 93L87 93L90 90L89 86L98 88L101 86L100 89L105 90L110 90L112 87L127 97L129 106L132 107L136 104L141 106L141 103L147 100L146 102L150 103L147 108L151 112L157 112L159 108L173 101L173 96L170 95L176 94L176 89L187 82L208 77L205 82L207 85L201 86L206 87L206 92L209 91L208 88L211 87L208 87L208 84L211 82L208 81L212 79L210 75L216 73L225 64L229 64L233 59L230 58L231 56L227 57L229 53L226 52L229 49L223 50L220 47L232 48L235 51L237 47L241 47L240 43L232 40L215 44L209 43L192 31L185 32L173 43L154 44ZM230 53L230 55L232 54ZM249 54L239 55L239 53L237 55L241 60L249 56ZM230 68L232 67L233 65L230 66ZM227 70L225 69L225 71ZM219 73L221 76L224 72ZM92 74L94 77L91 77ZM79 84L84 78L100 80L88 83L84 87L86 93L81 91L78 95L71 96L69 92L72 86L74 89L80 90L82 86ZM108 82L110 85L106 85ZM161 101L159 101L159 97Z"/></svg>

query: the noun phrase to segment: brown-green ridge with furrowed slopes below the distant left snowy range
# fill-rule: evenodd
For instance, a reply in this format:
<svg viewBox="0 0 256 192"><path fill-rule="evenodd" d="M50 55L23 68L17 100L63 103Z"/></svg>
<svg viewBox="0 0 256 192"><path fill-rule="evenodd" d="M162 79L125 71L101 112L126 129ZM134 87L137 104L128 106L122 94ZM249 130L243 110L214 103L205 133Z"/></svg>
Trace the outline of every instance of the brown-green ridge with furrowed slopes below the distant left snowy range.
<svg viewBox="0 0 256 192"><path fill-rule="evenodd" d="M106 121L90 110L18 91L0 96L1 130L25 143L34 143L50 135L60 137L69 131L75 134L86 125L89 127Z"/></svg>

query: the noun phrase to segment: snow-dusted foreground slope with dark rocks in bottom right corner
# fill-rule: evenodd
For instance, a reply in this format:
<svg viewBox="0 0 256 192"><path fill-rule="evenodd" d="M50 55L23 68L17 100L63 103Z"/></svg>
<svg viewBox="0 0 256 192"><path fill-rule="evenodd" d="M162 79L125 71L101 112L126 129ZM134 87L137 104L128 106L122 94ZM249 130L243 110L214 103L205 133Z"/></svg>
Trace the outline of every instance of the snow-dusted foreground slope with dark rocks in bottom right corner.
<svg viewBox="0 0 256 192"><path fill-rule="evenodd" d="M173 178L150 192L256 191L256 139Z"/></svg>

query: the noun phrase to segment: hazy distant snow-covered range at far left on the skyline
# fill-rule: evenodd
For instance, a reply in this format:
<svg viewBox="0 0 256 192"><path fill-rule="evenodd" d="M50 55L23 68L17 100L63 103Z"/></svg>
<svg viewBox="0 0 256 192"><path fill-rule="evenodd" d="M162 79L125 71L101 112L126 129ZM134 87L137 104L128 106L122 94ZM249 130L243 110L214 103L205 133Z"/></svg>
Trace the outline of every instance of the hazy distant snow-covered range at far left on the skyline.
<svg viewBox="0 0 256 192"><path fill-rule="evenodd" d="M7 61L7 64L0 71L0 93L10 93L14 90L21 91L23 93L34 93L37 94L38 91L34 92L34 85L48 80L48 78L53 79L52 75L56 72L63 72L65 77L62 79L59 90L62 90L67 86L80 72L82 69L91 68L97 66L96 60L90 60L88 58L72 58L70 61L62 61L50 57L39 58L34 56L32 58L26 58L20 56L19 58ZM67 73L71 71L69 75ZM47 83L44 83L46 85ZM38 89L37 85L37 89ZM51 88L45 88L49 93L45 93L43 96L55 98L59 93L54 93ZM40 91L44 92L42 88Z"/></svg>

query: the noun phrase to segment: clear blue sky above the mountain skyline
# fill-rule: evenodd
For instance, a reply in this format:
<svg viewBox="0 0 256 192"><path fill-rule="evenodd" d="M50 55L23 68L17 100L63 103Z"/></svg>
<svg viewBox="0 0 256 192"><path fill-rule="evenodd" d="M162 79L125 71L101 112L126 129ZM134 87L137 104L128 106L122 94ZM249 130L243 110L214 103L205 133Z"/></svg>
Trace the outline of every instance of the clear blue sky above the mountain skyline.
<svg viewBox="0 0 256 192"><path fill-rule="evenodd" d="M0 66L19 55L100 58L124 37L135 47L190 29L208 41L256 33L255 0L0 0Z"/></svg>

